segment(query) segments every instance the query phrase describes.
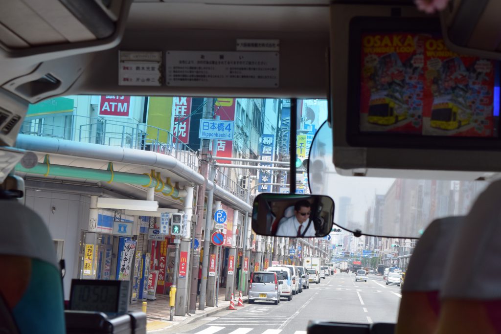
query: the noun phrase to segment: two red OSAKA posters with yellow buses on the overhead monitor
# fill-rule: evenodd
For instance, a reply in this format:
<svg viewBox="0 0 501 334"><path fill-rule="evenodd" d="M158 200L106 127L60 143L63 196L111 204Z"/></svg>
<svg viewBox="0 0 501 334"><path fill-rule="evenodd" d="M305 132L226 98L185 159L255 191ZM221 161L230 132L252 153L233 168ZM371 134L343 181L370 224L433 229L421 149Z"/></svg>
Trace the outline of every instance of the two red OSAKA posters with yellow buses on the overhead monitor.
<svg viewBox="0 0 501 334"><path fill-rule="evenodd" d="M498 63L461 56L438 35L362 34L360 130L493 137Z"/></svg>

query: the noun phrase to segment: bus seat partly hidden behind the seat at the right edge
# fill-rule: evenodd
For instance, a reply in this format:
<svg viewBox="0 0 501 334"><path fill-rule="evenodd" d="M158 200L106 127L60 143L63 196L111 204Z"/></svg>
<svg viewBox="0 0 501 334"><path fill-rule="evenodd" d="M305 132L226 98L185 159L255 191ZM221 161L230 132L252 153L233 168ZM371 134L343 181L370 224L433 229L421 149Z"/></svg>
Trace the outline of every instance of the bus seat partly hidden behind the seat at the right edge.
<svg viewBox="0 0 501 334"><path fill-rule="evenodd" d="M431 333L438 323L444 264L463 216L436 219L416 244L402 285L395 333Z"/></svg>

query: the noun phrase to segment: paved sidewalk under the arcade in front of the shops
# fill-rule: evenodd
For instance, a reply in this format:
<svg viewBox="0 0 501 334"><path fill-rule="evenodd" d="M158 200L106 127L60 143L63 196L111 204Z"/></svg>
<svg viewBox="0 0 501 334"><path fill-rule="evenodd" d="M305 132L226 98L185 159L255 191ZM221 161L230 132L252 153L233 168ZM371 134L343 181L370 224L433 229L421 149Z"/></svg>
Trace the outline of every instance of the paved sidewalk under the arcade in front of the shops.
<svg viewBox="0 0 501 334"><path fill-rule="evenodd" d="M203 311L198 310L198 299L199 296L197 296L197 301L196 301L196 311L194 314L188 315L186 314L185 316L178 316L174 315L172 320L169 321L169 315L170 315L170 306L169 306L169 295L157 295L156 300L146 300L147 302L147 307L146 307L146 318L147 318L147 324L146 324L146 330L148 332L154 331L154 330L159 330L159 329L165 329L168 327L176 326L179 324L186 324L188 322L191 322L195 319L201 318L201 317L206 317L210 316L222 309L226 309L229 306L229 300L224 300L226 294L226 289L225 288L219 288L219 295L218 295L218 300L217 304L218 307L215 306L206 306ZM235 297L235 306L238 303L238 295L234 296ZM246 296L242 296L243 302L247 301ZM143 307L143 302L138 301L134 304L129 305L129 310L131 311L142 311Z"/></svg>

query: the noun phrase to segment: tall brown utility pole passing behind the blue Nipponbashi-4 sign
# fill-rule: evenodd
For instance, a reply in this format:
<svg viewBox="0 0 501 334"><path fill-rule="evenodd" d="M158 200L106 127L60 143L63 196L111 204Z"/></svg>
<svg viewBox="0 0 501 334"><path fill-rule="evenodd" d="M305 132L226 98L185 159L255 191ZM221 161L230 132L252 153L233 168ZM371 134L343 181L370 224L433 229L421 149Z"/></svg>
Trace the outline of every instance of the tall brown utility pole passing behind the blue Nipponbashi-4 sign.
<svg viewBox="0 0 501 334"><path fill-rule="evenodd" d="M203 108L202 117L205 119L212 119L214 115L214 102L212 98L207 98L206 103ZM200 174L205 179L205 182L198 188L197 202L196 202L196 225L195 225L195 233L194 238L201 240L202 239L202 224L203 224L203 204L205 200L205 189L207 186L207 170L208 164L210 162L209 157L209 139L202 139L202 148L201 154L199 157L200 161ZM207 231L205 231L207 233ZM204 250L206 252L207 249ZM196 249L193 252L193 258L191 259L191 286L190 286L190 298L189 298L189 313L195 313L196 310L196 290L198 285L198 266L200 263L200 250Z"/></svg>

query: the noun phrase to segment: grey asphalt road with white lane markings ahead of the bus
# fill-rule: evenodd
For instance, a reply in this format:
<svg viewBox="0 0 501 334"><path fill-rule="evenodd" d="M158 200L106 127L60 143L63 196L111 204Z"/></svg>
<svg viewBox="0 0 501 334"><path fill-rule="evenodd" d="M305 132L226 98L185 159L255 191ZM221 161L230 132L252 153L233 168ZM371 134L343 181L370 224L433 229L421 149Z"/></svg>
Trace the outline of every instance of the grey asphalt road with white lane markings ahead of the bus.
<svg viewBox="0 0 501 334"><path fill-rule="evenodd" d="M355 282L354 273L338 273L322 279L320 284L311 284L291 301L283 298L278 305L256 301L159 333L306 334L311 319L396 322L400 287L386 285L382 276L367 277L367 282Z"/></svg>

